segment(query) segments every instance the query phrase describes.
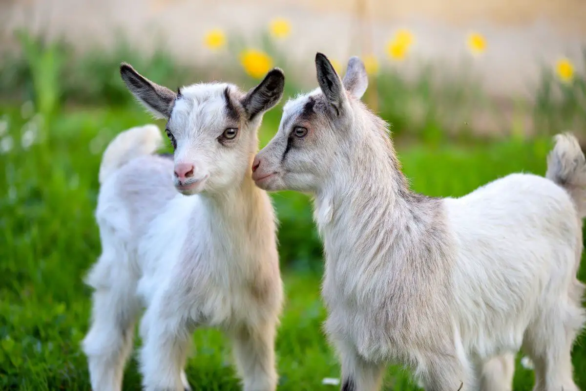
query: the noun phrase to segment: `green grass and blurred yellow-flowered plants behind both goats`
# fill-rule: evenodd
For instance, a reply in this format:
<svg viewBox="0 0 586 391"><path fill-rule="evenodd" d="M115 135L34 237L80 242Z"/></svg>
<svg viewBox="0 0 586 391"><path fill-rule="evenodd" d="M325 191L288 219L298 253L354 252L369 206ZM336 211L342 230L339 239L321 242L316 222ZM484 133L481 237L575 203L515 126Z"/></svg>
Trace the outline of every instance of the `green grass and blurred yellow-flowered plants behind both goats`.
<svg viewBox="0 0 586 391"><path fill-rule="evenodd" d="M291 22L282 17L258 26L248 41L209 29L194 39L222 54L215 63L194 65L178 61L164 45L145 51L124 36L108 49L80 52L42 32L13 32L12 44L0 51L0 389L90 389L79 348L90 310L82 278L100 253L93 212L101 153L118 132L154 121L122 84L120 62L172 89L212 79L247 89L279 66L288 75L286 101L315 87L280 45L280 39L294 39L290 35ZM391 124L415 191L457 197L510 172L543 175L551 135L571 130L586 141L586 84L576 63L560 58L555 66L544 64L532 99L511 96L503 103L466 72L466 62L448 77L441 64L421 61L406 76L399 63L411 56L415 39L411 30L397 30L386 59L363 52L370 73L364 100ZM486 38L469 36L468 50L482 56L489 50ZM311 66L313 55L297 61ZM340 73L344 63L335 64ZM265 115L261 145L277 130L281 106ZM499 131L475 127L481 114ZM336 389L322 385L323 378L339 377L339 366L321 332L322 246L311 201L294 192L272 198L287 292L277 340L280 389ZM574 348L575 377L586 388L582 345L580 339ZM197 331L194 346L187 372L195 390L238 389L219 332ZM515 390L532 389L532 370L517 367ZM386 390L418 388L400 368L391 368L384 384ZM124 389L139 388L132 359Z"/></svg>

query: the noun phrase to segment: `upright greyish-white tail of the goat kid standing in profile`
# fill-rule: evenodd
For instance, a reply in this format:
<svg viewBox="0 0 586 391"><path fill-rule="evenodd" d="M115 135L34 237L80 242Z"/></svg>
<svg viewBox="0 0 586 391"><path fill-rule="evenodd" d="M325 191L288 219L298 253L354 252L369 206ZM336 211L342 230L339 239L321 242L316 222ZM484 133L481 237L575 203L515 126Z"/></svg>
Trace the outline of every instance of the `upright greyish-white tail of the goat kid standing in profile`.
<svg viewBox="0 0 586 391"><path fill-rule="evenodd" d="M558 134L556 145L547 157L546 177L571 196L578 215L586 217L586 157L573 134Z"/></svg>

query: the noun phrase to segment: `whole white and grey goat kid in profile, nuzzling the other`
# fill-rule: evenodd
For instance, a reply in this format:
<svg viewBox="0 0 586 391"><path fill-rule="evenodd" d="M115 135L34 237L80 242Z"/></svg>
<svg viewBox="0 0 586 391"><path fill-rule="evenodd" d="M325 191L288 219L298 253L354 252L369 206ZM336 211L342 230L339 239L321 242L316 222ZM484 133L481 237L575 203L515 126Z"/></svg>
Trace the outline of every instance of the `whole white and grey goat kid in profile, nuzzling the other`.
<svg viewBox="0 0 586 391"><path fill-rule="evenodd" d="M350 59L343 81L319 53L316 68L320 89L285 105L253 178L315 197L342 389L378 389L387 362L428 390L510 389L523 348L536 390L577 390L586 162L575 138L558 136L547 179L512 174L428 198L410 191L386 124L360 102L362 62Z"/></svg>

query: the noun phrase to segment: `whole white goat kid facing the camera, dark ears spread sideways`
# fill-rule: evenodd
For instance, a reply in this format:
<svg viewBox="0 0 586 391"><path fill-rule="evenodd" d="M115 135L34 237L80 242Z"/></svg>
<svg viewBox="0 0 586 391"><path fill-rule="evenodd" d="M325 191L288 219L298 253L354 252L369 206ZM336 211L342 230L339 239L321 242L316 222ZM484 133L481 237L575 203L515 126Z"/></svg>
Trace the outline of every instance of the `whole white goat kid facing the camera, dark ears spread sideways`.
<svg viewBox="0 0 586 391"><path fill-rule="evenodd" d="M83 341L92 388L121 389L135 319L147 307L146 390L190 389L183 367L190 335L203 326L233 338L244 390L274 390L282 283L272 205L250 167L284 75L271 70L247 94L224 83L174 93L128 64L120 71L132 94L168 119L175 164L154 154L162 141L154 125L123 132L104 152L96 210L103 252L87 277L95 291Z"/></svg>

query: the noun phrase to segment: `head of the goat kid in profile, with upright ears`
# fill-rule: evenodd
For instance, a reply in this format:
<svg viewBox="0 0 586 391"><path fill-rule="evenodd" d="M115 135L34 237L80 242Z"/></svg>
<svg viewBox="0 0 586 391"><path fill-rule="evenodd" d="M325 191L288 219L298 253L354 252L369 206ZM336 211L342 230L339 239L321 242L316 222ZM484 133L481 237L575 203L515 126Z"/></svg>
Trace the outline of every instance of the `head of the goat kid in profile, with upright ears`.
<svg viewBox="0 0 586 391"><path fill-rule="evenodd" d="M352 57L343 81L321 53L315 66L319 89L285 104L277 134L254 159L262 189L317 192L352 142L355 107L368 85L364 64Z"/></svg>

